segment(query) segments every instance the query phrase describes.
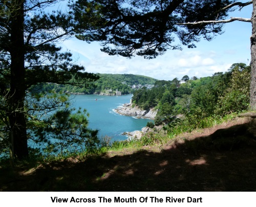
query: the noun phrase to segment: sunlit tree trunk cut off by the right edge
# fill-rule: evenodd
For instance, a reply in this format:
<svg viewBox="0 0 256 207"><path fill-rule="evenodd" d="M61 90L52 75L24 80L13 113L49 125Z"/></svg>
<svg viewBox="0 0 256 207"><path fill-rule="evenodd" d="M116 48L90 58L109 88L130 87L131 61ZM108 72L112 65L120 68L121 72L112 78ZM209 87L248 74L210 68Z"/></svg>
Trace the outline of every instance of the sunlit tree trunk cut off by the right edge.
<svg viewBox="0 0 256 207"><path fill-rule="evenodd" d="M253 0L251 24L252 24L252 35L251 35L250 106L252 110L256 110L256 0Z"/></svg>

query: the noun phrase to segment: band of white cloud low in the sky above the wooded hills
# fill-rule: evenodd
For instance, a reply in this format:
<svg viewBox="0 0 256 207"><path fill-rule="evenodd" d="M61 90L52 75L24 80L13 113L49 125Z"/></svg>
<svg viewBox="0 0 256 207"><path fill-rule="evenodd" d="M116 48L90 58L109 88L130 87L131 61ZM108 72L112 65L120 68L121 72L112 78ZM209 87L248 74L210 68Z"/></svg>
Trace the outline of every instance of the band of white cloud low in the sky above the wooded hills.
<svg viewBox="0 0 256 207"><path fill-rule="evenodd" d="M247 45L236 48L236 44L227 50L216 47L217 42L200 42L198 48L183 51L167 51L156 59L147 60L143 57L127 59L121 56L109 56L100 51L98 42L88 44L77 39L63 42L65 48L78 58L77 63L86 67L91 73L137 74L150 76L159 80L181 79L184 75L189 77L211 76L217 72L226 72L232 63L247 63L250 56ZM236 54L231 51L237 51ZM243 61L244 60L244 61Z"/></svg>

